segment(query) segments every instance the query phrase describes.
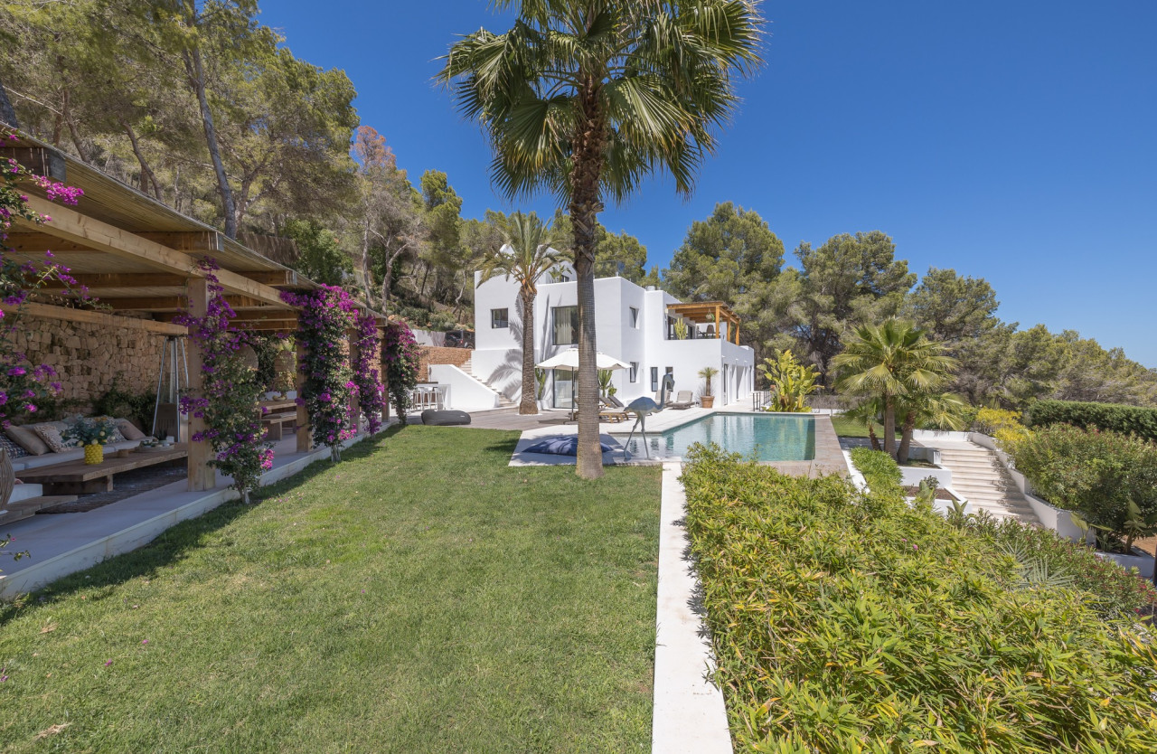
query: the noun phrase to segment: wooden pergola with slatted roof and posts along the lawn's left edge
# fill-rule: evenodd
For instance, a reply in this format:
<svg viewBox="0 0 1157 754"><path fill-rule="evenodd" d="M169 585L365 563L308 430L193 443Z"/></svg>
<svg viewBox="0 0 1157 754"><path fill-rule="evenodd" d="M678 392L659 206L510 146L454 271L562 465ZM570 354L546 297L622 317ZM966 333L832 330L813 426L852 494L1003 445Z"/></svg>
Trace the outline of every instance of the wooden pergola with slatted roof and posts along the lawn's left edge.
<svg viewBox="0 0 1157 754"><path fill-rule="evenodd" d="M281 291L316 289L317 283L35 139L20 134L19 140L0 143L0 161L8 158L84 192L78 206L69 207L49 201L36 186L23 187L29 207L52 220L35 224L17 219L6 242L13 249L9 256L17 261L42 261L45 252L52 251L57 261L71 268L76 282L100 300L96 309L34 301L24 305L24 313L187 335L187 328L172 320L180 310L205 313L208 281L198 263L211 257L220 265L214 275L237 312L238 324L259 331L296 331L297 310L281 301ZM42 288L40 293L62 290ZM385 318L376 316L383 326ZM190 389L196 392L201 355L194 341L190 346ZM355 356L351 353L351 358ZM299 383L301 379L299 374ZM204 429L201 420L190 416L189 422L190 437ZM299 451L310 449L308 424L304 407L299 407ZM207 465L211 454L208 443L190 442L190 489L215 486L215 471Z"/></svg>

